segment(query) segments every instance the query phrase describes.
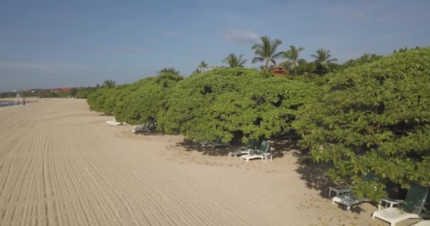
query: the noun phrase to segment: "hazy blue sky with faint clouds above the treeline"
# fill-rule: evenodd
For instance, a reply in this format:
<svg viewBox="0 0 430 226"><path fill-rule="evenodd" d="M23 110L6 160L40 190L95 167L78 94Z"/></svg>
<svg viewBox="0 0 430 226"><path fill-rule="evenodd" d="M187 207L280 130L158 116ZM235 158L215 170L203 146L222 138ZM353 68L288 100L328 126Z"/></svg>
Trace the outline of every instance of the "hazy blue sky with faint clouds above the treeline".
<svg viewBox="0 0 430 226"><path fill-rule="evenodd" d="M430 45L430 1L0 1L0 92L188 76L262 35L343 62ZM281 61L281 60L279 60ZM248 64L257 67L258 65Z"/></svg>

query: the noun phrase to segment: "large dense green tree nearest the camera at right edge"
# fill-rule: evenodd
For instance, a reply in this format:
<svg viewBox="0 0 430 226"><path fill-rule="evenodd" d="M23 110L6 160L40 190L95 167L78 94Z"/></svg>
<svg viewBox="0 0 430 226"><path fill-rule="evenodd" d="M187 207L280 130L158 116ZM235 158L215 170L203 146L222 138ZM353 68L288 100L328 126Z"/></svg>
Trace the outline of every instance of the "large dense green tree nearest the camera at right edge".
<svg viewBox="0 0 430 226"><path fill-rule="evenodd" d="M294 127L330 175L373 200L388 182L430 185L430 48L331 74ZM378 180L364 182L373 172Z"/></svg>

